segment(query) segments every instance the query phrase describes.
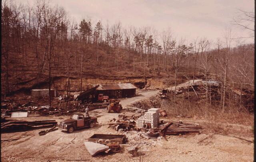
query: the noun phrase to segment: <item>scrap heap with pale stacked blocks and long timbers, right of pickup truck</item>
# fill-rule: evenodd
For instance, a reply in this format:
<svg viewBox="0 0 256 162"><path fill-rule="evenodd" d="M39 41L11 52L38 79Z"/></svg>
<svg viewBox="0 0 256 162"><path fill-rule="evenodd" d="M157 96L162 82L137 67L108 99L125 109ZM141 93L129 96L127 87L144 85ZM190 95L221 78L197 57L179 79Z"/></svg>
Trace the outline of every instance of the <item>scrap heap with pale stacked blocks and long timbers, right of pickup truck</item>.
<svg viewBox="0 0 256 162"><path fill-rule="evenodd" d="M165 138L166 135L200 134L204 129L199 124L190 124L182 121L164 123L163 120L159 120L160 112L166 113L153 108L149 109L145 113L145 116L139 117L138 120L124 118L123 115L119 115L122 118L117 120L112 119L106 124L109 125L108 128L115 128L116 131L124 131L130 140L139 140L140 138L151 139L157 138L160 135ZM158 117L156 114L158 114Z"/></svg>

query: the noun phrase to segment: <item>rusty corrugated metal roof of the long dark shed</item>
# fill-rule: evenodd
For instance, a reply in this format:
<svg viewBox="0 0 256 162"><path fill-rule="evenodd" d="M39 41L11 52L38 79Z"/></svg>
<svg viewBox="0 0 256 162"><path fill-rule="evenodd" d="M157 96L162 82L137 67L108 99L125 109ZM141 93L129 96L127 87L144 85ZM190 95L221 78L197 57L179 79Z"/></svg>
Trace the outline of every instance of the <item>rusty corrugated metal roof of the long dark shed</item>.
<svg viewBox="0 0 256 162"><path fill-rule="evenodd" d="M96 85L94 85L96 86ZM100 84L97 90L136 89L132 83Z"/></svg>

